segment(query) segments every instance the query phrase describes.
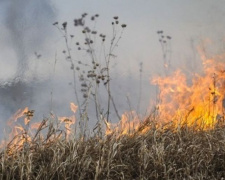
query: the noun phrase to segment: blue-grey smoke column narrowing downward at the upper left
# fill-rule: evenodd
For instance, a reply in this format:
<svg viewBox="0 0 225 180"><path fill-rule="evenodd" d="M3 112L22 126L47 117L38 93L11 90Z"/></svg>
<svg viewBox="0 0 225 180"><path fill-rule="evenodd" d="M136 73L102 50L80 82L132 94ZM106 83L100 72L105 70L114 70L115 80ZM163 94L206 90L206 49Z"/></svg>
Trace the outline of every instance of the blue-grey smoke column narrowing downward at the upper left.
<svg viewBox="0 0 225 180"><path fill-rule="evenodd" d="M29 56L43 48L55 12L49 0L8 0L4 18L11 47L17 56L15 77L23 79Z"/></svg>

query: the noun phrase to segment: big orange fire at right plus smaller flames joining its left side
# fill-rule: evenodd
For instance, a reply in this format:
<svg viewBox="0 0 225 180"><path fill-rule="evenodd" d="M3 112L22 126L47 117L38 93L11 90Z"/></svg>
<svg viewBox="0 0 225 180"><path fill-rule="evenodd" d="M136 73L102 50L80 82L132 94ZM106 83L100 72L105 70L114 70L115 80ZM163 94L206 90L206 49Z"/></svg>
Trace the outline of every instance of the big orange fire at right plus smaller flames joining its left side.
<svg viewBox="0 0 225 180"><path fill-rule="evenodd" d="M207 59L201 53L203 72L190 77L177 70L166 77L154 77L151 83L158 86L159 96L153 121L155 127L168 123L175 129L192 127L195 130L209 130L224 124L225 115L225 55ZM132 135L146 133L135 112L126 112L119 123L106 122L106 135ZM147 122L148 118L145 120Z"/></svg>

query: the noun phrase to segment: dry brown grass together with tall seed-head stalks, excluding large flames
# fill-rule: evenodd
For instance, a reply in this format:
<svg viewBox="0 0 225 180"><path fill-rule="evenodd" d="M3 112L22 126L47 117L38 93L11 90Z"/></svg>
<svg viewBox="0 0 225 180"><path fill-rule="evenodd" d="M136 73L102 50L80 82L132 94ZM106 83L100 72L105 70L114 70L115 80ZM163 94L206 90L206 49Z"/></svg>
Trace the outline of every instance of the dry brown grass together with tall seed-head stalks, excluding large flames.
<svg viewBox="0 0 225 180"><path fill-rule="evenodd" d="M67 23L64 22L62 27L58 25L58 22L54 23L65 39L66 50L63 53L73 72L74 82L72 84L78 105L78 115L76 115L78 116L78 122L76 122L78 129L75 131L60 129L58 123L52 121L51 118L43 120L34 134L29 132L29 128L22 128L22 131L15 135L12 141L7 142L1 150L0 178L3 180L212 180L225 178L225 130L223 125L216 126L211 130L200 130L200 128L196 129L191 126L175 128L172 125L165 125L159 127L153 123L157 122L157 116L151 116L138 129L135 129L135 132L122 135L123 133L111 129L111 132L105 135L107 133L104 126L107 126L112 118L110 117L111 109L115 110L118 116L116 118L120 119L110 91L109 69L111 58L114 58L113 51L118 46L126 25L122 24L122 30L119 31L118 17L114 17L113 37L110 41L109 52L107 54L104 51L103 59L99 60L96 58L93 45L95 41L92 40L95 39L97 32L84 25L86 16L85 13L81 18L75 19L74 25L82 27L85 47L82 47L79 42L76 42L76 46L78 51L90 55L90 62L87 64L73 59L68 42L70 39L73 42L74 36L68 34ZM91 20L94 21L98 16L92 16ZM118 32L121 32L119 36ZM164 38L162 33L162 31L158 31L160 38ZM105 49L105 38L105 35L100 34L103 49ZM167 36L167 40L170 39L171 37ZM164 50L164 46L167 45L166 41L160 39L160 42ZM169 66L170 61L165 53L166 51L163 51L164 66ZM56 61L54 66L56 66ZM87 72L84 72L85 68L88 70ZM107 102L104 105L100 104L98 99L98 96L101 95L99 93L101 86L107 94ZM82 88L83 99L78 95L79 88ZM51 92L52 94L53 92ZM214 99L215 96L214 86ZM88 136L85 134L85 123L89 119L87 107L90 100L95 103L97 123L93 134ZM215 105L216 102L213 107ZM102 107L106 107L106 109L102 111ZM74 114L75 111L73 111ZM28 112L25 114L29 120L27 126L33 116L33 111ZM70 119L63 121L65 122L65 120L69 121ZM143 132L143 129L148 129L148 131ZM70 136L68 133L71 133Z"/></svg>

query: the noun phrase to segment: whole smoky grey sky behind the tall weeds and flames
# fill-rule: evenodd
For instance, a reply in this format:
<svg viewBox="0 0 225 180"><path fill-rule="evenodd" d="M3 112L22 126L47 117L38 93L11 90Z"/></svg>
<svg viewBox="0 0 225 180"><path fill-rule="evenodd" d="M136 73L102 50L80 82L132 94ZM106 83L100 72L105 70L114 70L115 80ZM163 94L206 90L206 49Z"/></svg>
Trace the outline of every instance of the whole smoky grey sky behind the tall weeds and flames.
<svg viewBox="0 0 225 180"><path fill-rule="evenodd" d="M66 48L64 38L52 25L54 22L60 26L68 22L68 33L74 34L76 42L82 39L82 33L74 28L73 20L84 12L89 19L99 14L95 27L107 35L108 46L113 17L119 16L120 23L127 24L114 52L117 58L112 62L112 95L122 114L137 109L141 91L140 109L144 113L157 96L150 85L151 77L165 75L157 31L172 37L166 47L170 71L180 68L198 72L198 46L206 46L208 56L225 48L224 7L223 0L0 0L0 94L4 96L1 121L5 122L16 108L27 105L47 116L51 92L53 110L60 115L70 113L69 102L75 101L69 86L72 76L62 53ZM76 48L74 42L70 45ZM37 58L35 52L41 57ZM77 58L79 54L73 53ZM11 85L18 77L22 85ZM10 87L14 90L4 90Z"/></svg>

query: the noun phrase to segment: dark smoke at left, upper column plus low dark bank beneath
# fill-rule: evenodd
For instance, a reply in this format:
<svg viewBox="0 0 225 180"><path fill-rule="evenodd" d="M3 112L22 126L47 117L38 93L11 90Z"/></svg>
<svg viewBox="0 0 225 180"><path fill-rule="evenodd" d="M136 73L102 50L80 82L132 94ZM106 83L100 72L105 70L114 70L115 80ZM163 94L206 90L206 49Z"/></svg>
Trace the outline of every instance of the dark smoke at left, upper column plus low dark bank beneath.
<svg viewBox="0 0 225 180"><path fill-rule="evenodd" d="M28 76L32 74L31 57L36 51L46 51L56 12L50 0L0 0L0 6L4 9L0 20L7 32L1 44L11 49L17 64L16 71L10 71L10 78L0 82L0 117L6 121L18 108L37 104L34 100L47 84L38 80L37 74L32 78ZM7 62L10 57L6 54L2 61Z"/></svg>

